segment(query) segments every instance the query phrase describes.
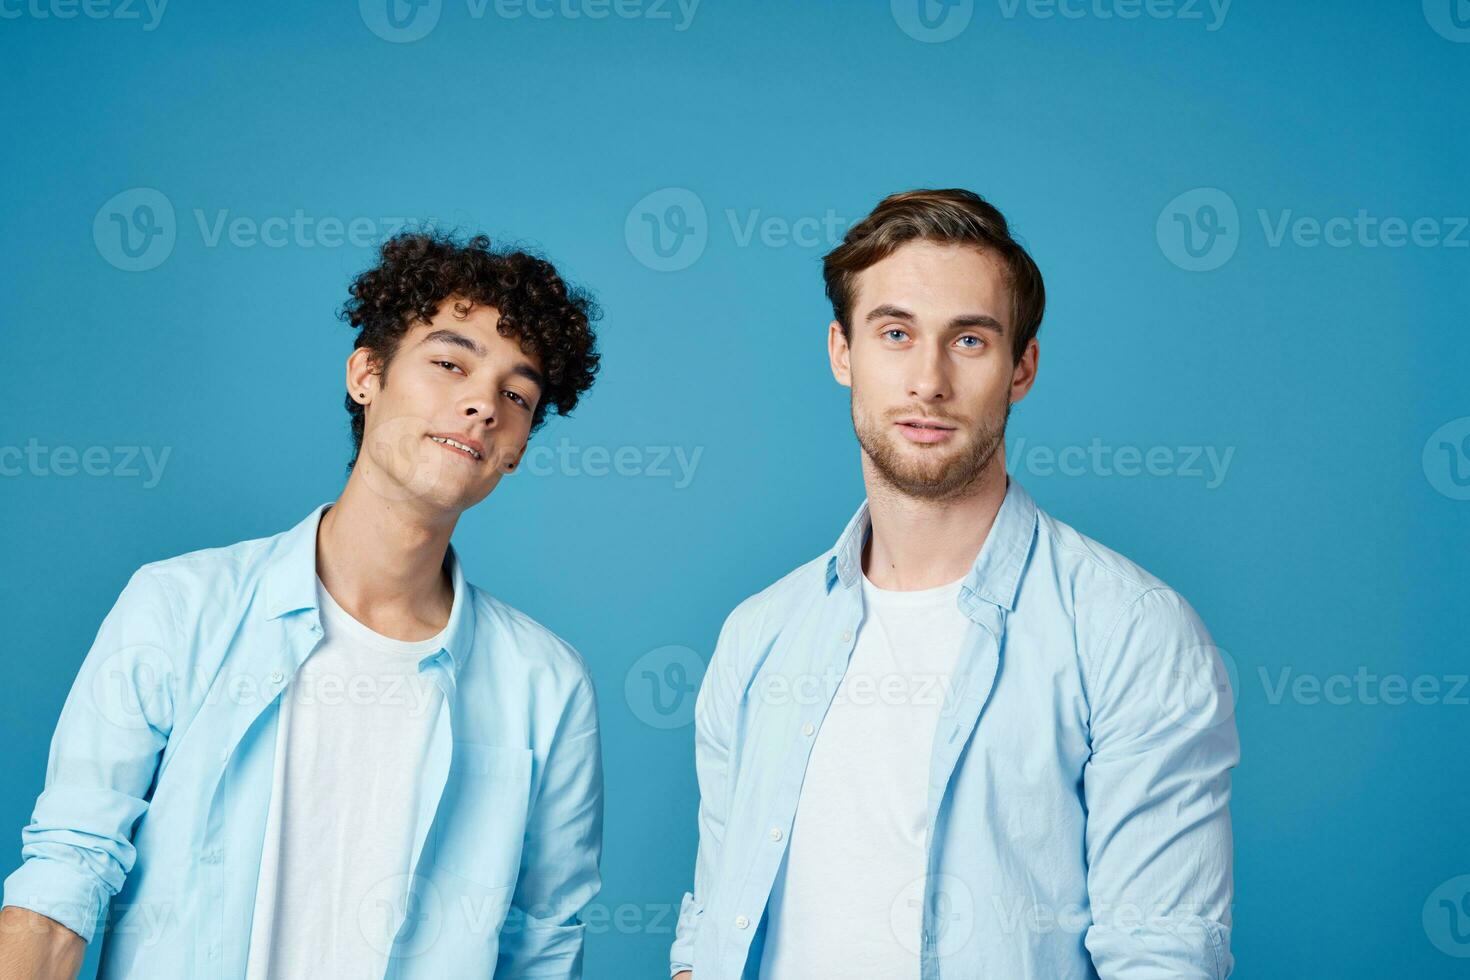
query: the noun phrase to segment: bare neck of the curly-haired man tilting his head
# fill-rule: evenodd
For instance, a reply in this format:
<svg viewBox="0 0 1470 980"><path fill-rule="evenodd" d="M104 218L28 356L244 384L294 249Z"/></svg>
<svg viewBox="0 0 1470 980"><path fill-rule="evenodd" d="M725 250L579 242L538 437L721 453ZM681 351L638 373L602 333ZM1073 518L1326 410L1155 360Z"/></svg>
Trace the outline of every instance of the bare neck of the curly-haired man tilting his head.
<svg viewBox="0 0 1470 980"><path fill-rule="evenodd" d="M353 470L316 529L316 573L357 621L392 639L428 639L454 604L444 555L457 520L385 500Z"/></svg>

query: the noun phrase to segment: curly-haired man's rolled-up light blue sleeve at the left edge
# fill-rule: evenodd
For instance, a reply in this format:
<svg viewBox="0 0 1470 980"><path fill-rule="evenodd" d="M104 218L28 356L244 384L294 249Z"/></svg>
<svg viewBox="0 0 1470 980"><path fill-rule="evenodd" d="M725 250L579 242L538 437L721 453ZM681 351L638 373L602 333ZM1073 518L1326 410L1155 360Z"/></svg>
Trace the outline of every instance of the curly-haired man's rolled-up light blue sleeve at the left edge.
<svg viewBox="0 0 1470 980"><path fill-rule="evenodd" d="M173 727L172 599L154 572L132 574L103 620L62 707L46 786L21 833L4 904L91 942L132 870L132 830L148 808Z"/></svg>

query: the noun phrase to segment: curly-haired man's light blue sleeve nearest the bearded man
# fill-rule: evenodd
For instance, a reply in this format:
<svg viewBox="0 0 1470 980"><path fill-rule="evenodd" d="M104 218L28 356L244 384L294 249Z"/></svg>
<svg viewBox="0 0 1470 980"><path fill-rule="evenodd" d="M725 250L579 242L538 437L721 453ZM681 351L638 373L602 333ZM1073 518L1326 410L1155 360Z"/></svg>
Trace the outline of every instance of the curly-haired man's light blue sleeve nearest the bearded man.
<svg viewBox="0 0 1470 980"><path fill-rule="evenodd" d="M582 911L601 887L603 760L584 674L547 752L525 857L500 937L497 977L582 976Z"/></svg>

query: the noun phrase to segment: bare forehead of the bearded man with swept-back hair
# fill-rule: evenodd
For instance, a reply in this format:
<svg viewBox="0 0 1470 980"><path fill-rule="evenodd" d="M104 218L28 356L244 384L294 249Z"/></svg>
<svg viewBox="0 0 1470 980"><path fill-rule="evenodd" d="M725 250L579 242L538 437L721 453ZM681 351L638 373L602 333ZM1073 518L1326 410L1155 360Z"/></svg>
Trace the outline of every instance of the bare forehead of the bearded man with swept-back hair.
<svg viewBox="0 0 1470 980"><path fill-rule="evenodd" d="M876 306L919 317L983 313L1010 323L1010 288L1000 257L976 245L910 241L857 273L853 319Z"/></svg>

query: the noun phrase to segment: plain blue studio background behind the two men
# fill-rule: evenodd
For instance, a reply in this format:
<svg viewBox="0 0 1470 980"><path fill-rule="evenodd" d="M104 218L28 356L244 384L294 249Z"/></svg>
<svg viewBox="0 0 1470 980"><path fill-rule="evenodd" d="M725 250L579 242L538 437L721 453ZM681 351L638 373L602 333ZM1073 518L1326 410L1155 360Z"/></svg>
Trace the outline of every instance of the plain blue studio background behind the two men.
<svg viewBox="0 0 1470 980"><path fill-rule="evenodd" d="M417 12L419 40L368 0L173 0L153 29L146 7L24 3L0 4L0 451L171 455L153 486L147 469L65 476L9 455L0 873L128 574L282 530L341 488L351 332L334 311L372 248L212 239L220 215L434 220L544 250L606 309L603 376L538 444L635 447L642 470L517 475L456 545L595 673L607 824L588 976L666 976L695 848L692 729L645 723L625 679L664 646L707 657L725 614L828 548L861 498L823 347L835 238L779 231L831 210L839 237L886 192L963 185L1047 276L1013 447L1167 447L1185 470L1011 458L1044 508L1183 592L1229 651L1238 976L1464 976L1470 943L1430 902L1470 887L1454 880L1470 874L1470 707L1446 696L1470 669L1470 232L1454 220L1470 131L1452 110L1470 29L1449 0L1236 0L1223 22L979 0L942 41L904 0L704 0L688 21L654 0L603 19L582 0L547 18L442 0ZM129 272L106 232L137 188L173 209L175 242ZM1213 190L1175 204L1197 188ZM669 204L691 195L704 216L681 223ZM1233 220L1202 210L1222 201ZM1272 244L1283 216L1360 210L1433 219L1442 241ZM1183 267L1186 223L1217 267ZM651 267L654 225L691 229L684 267ZM660 476L647 447L698 451L692 480ZM1185 447L1233 451L1223 480L1191 476ZM1441 695L1276 696L1283 677L1360 670L1436 677Z"/></svg>

